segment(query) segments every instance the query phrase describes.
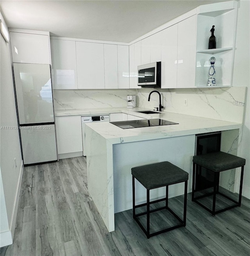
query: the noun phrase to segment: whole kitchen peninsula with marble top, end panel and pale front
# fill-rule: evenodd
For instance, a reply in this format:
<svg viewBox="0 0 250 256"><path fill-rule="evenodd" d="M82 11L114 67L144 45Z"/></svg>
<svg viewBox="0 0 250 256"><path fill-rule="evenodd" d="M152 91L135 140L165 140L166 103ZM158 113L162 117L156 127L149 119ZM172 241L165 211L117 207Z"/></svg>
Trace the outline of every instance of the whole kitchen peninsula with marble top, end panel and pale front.
<svg viewBox="0 0 250 256"><path fill-rule="evenodd" d="M138 110L133 112L138 117L178 124L132 129L122 129L109 122L86 124L88 190L109 232L114 231L114 213L132 209L131 167L169 161L189 173L190 192L195 134L221 131L221 151L228 152L235 143L238 147L241 123L170 112L135 111ZM169 196L179 196L182 191L182 184L172 190L170 187ZM138 188L136 193L136 203L145 202L145 191ZM158 189L152 192L151 199L163 195L164 189Z"/></svg>

